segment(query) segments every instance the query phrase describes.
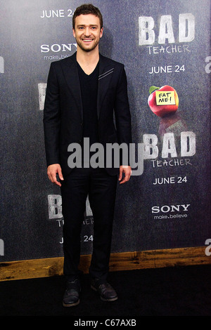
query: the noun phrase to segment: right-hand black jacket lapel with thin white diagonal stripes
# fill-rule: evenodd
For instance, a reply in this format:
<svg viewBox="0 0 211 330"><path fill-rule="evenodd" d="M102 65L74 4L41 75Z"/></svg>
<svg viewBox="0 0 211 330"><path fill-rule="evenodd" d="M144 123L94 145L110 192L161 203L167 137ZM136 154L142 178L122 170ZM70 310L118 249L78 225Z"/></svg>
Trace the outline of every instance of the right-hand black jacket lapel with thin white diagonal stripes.
<svg viewBox="0 0 211 330"><path fill-rule="evenodd" d="M106 96L113 70L113 62L110 62L108 58L105 58L103 55L100 55L97 99L98 119L100 117L101 105L103 104L103 100Z"/></svg>

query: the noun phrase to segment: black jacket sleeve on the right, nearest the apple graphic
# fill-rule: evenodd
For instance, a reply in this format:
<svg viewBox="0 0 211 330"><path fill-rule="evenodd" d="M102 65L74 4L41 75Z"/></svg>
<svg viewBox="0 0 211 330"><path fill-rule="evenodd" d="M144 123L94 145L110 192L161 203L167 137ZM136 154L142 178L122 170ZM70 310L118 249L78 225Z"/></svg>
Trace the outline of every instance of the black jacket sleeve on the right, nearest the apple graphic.
<svg viewBox="0 0 211 330"><path fill-rule="evenodd" d="M127 95L127 77L122 65L120 77L117 84L117 93L115 98L115 123L117 128L118 143L126 143L128 150L127 164L124 157L124 164L129 165L129 143L132 143L131 114L129 110L129 100Z"/></svg>

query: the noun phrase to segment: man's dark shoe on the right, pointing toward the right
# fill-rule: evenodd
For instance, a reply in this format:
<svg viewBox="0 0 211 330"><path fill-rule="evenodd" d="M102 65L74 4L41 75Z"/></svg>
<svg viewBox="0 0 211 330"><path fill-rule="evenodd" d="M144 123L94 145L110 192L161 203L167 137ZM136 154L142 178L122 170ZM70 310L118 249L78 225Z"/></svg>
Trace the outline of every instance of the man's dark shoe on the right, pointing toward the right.
<svg viewBox="0 0 211 330"><path fill-rule="evenodd" d="M106 281L101 282L99 279L92 279L91 289L100 294L102 301L116 301L118 299L115 289Z"/></svg>

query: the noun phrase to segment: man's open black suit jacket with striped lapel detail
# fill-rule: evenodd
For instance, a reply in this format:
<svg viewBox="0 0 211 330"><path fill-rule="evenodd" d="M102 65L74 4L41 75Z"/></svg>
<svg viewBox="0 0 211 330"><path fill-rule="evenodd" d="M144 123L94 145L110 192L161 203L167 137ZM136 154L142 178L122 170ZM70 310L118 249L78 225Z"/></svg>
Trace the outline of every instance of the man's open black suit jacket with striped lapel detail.
<svg viewBox="0 0 211 330"><path fill-rule="evenodd" d="M100 55L98 76L99 143L132 142L131 116L124 65ZM115 114L115 120L114 116ZM76 53L51 63L44 105L46 163L60 164L63 176L70 173L68 145L82 143L83 109ZM118 169L107 169L114 175Z"/></svg>

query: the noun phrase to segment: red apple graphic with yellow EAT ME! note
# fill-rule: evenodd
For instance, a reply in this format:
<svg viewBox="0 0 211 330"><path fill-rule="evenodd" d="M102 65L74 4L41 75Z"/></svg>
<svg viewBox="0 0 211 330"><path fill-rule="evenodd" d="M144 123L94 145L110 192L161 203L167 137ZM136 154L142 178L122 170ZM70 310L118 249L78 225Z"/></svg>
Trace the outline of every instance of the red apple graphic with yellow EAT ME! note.
<svg viewBox="0 0 211 330"><path fill-rule="evenodd" d="M177 112L179 98L172 86L151 86L148 105L158 117L166 117ZM157 95L156 95L157 94Z"/></svg>

